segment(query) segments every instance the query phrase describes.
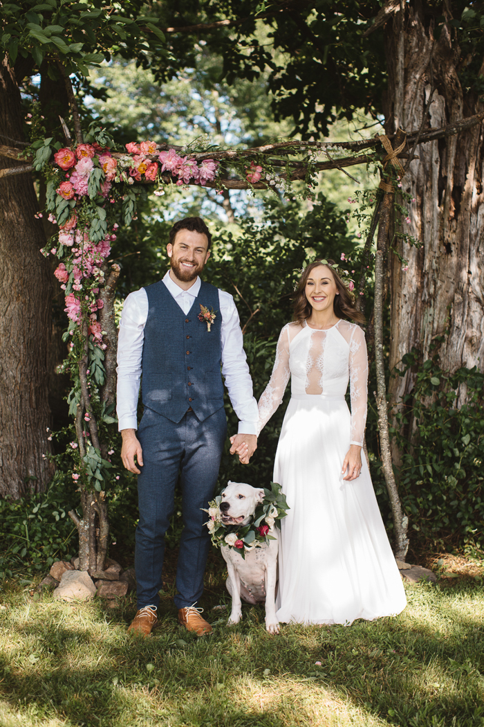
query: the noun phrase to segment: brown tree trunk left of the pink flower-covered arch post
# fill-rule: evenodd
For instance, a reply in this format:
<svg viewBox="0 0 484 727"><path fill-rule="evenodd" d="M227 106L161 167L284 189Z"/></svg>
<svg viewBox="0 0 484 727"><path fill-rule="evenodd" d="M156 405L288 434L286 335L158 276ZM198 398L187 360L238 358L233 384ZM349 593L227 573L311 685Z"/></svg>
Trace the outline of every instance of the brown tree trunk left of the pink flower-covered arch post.
<svg viewBox="0 0 484 727"><path fill-rule="evenodd" d="M22 140L20 92L0 61L0 134ZM20 163L21 164L21 163ZM0 169L20 166L0 157ZM47 361L52 283L30 174L0 179L0 495L42 491L52 477Z"/></svg>

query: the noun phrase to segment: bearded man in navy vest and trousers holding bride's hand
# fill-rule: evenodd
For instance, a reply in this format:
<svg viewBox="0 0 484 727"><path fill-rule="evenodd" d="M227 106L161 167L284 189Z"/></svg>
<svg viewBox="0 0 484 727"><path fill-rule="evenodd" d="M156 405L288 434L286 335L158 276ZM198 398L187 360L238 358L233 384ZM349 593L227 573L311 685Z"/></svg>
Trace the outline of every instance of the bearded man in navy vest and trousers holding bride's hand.
<svg viewBox="0 0 484 727"><path fill-rule="evenodd" d="M128 295L120 321L121 458L138 475L139 499L138 611L128 631L142 635L157 624L164 536L179 475L184 529L175 604L179 622L189 631L202 635L212 630L197 602L210 545L202 508L213 496L226 440L221 373L240 420L231 454L237 451L247 462L257 446L258 410L234 300L199 278L210 243L210 231L200 217L176 222L167 245L171 269L163 280ZM144 413L136 433L141 373Z"/></svg>

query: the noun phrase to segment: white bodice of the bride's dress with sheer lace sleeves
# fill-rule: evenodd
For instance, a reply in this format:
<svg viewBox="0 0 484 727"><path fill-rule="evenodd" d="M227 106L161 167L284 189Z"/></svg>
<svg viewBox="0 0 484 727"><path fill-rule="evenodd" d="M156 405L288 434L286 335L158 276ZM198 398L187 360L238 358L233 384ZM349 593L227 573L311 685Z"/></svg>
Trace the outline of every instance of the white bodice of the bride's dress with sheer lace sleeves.
<svg viewBox="0 0 484 727"><path fill-rule="evenodd" d="M292 396L344 396L350 381L351 444L363 446L368 358L364 332L340 320L324 331L290 323L279 335L271 379L259 403L258 433L282 402L287 382Z"/></svg>

